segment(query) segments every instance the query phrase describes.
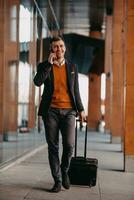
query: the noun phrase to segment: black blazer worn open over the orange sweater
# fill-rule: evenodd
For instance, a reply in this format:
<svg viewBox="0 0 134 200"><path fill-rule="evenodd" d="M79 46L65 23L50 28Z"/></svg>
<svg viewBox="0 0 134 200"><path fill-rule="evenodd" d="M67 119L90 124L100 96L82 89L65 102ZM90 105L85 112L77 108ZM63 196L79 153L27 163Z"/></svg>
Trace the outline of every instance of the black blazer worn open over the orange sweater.
<svg viewBox="0 0 134 200"><path fill-rule="evenodd" d="M81 112L84 110L78 84L78 72L77 67L70 62L65 62L66 71L67 71L67 85L72 103L76 112ZM36 86L41 86L44 84L44 90L42 94L42 99L39 106L38 115L45 116L52 100L54 92L54 76L52 65L48 62L39 63L37 66L37 73L33 79Z"/></svg>

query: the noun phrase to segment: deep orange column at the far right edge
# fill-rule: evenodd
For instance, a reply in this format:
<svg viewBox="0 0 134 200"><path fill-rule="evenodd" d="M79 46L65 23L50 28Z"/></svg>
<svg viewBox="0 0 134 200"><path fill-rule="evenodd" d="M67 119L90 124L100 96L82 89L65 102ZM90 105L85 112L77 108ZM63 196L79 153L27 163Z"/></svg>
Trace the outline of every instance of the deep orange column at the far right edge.
<svg viewBox="0 0 134 200"><path fill-rule="evenodd" d="M134 157L134 1L126 10L125 155ZM134 158L133 158L134 161ZM133 162L134 164L134 162ZM133 170L134 171L134 170Z"/></svg>

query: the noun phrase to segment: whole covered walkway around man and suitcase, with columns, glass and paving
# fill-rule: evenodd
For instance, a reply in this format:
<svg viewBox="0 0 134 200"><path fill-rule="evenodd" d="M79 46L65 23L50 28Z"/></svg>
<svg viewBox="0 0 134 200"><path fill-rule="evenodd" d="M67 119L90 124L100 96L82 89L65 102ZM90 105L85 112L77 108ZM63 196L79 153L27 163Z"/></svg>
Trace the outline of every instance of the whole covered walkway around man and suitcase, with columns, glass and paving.
<svg viewBox="0 0 134 200"><path fill-rule="evenodd" d="M0 200L134 200L134 1L1 0L0 30ZM88 80L87 156L99 166L95 187L52 194L33 76L59 34Z"/></svg>

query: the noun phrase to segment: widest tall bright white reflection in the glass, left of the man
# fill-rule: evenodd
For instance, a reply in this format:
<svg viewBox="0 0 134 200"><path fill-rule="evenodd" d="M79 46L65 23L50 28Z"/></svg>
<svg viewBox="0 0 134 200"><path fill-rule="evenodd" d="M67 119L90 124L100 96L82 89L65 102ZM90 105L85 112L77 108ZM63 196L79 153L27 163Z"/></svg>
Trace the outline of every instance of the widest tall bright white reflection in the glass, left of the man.
<svg viewBox="0 0 134 200"><path fill-rule="evenodd" d="M18 126L28 127L29 115L29 88L30 88L30 65L29 42L31 34L31 13L28 8L20 5L19 12L19 42L20 62L18 71Z"/></svg>

